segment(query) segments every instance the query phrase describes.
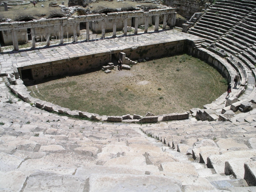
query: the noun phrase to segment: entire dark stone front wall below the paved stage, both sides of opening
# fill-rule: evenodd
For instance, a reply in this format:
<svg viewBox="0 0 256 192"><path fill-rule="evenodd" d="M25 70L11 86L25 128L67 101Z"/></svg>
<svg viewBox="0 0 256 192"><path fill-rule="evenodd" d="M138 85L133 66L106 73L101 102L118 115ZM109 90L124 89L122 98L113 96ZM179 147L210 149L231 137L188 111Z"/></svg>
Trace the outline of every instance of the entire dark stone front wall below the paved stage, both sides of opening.
<svg viewBox="0 0 256 192"><path fill-rule="evenodd" d="M44 79L51 76L65 76L75 73L84 73L89 69L101 68L102 65L109 63L111 54L117 56L118 53L124 52L126 53L126 57L132 60L143 59L146 57L151 59L154 57L171 56L183 52L184 42L184 40L164 42L123 50L108 50L90 55L80 53L68 57L67 59L49 62L42 61L42 63L39 64L18 68L18 70L19 74L22 74L23 69L31 69L31 75L34 80Z"/></svg>

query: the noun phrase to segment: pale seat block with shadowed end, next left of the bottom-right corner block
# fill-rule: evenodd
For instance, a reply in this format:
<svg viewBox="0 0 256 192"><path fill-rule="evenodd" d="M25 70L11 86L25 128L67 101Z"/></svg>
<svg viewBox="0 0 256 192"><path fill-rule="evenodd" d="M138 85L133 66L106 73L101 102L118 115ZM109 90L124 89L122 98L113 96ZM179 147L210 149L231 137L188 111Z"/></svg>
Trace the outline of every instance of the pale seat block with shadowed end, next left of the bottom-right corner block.
<svg viewBox="0 0 256 192"><path fill-rule="evenodd" d="M234 178L244 178L244 163L250 162L250 158L231 159L225 162L225 175L233 175Z"/></svg>

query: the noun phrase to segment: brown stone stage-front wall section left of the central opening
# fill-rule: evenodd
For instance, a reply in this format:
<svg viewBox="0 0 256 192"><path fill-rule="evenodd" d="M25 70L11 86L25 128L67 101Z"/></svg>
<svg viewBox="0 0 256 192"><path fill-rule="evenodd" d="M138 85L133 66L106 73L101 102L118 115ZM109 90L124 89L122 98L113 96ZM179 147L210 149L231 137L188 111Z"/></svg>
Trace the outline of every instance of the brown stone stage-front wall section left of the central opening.
<svg viewBox="0 0 256 192"><path fill-rule="evenodd" d="M51 76L65 76L84 73L89 69L99 68L110 62L110 52L91 54L89 56L74 57L66 60L32 65L31 73L34 80L45 79ZM21 70L19 68L19 74ZM22 78L22 77L21 77Z"/></svg>

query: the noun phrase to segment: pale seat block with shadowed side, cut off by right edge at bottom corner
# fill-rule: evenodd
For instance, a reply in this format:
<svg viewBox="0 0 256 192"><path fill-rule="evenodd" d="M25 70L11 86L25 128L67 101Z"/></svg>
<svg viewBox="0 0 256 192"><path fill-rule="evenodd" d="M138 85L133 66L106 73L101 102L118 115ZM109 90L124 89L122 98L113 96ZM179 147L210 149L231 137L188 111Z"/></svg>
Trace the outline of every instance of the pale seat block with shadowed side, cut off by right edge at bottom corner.
<svg viewBox="0 0 256 192"><path fill-rule="evenodd" d="M249 186L256 186L256 161L244 163L244 179Z"/></svg>

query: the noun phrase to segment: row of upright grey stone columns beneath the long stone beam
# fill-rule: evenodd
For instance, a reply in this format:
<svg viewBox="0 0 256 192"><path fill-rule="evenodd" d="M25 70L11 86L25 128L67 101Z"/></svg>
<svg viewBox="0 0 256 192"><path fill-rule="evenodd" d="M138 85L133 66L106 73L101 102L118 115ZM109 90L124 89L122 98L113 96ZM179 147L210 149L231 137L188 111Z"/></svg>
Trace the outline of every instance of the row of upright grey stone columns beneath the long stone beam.
<svg viewBox="0 0 256 192"><path fill-rule="evenodd" d="M105 15L105 14L103 14ZM149 16L146 16L145 18L145 29L144 32L147 33L148 30L148 18ZM164 14L163 16L163 29L166 27L166 20L167 20L167 14ZM127 35L127 23L128 23L128 18L124 19L124 35ZM158 31L159 29L159 15L155 16L155 31ZM74 42L78 41L78 36L79 36L79 31L80 31L80 25L79 23L74 23L73 27L73 37L74 37ZM135 26L134 26L134 34L138 33L138 17L135 17ZM49 28L50 30L50 28ZM19 50L19 45L18 45L18 38L16 35L16 30L11 30L12 33L12 43L13 43L13 48L14 50ZM101 27L101 35L102 38L105 38L105 20L102 20L102 27ZM116 22L113 22L113 37L116 37ZM86 22L86 38L87 42L90 41L90 22ZM60 39L60 44L64 43L64 38L63 38L63 25L60 25L60 34L59 34L59 39ZM31 41L32 41L32 48L35 48L35 28L31 28ZM46 36L46 45L50 46L50 31L49 34ZM0 47L1 51L1 47Z"/></svg>

